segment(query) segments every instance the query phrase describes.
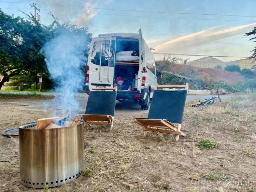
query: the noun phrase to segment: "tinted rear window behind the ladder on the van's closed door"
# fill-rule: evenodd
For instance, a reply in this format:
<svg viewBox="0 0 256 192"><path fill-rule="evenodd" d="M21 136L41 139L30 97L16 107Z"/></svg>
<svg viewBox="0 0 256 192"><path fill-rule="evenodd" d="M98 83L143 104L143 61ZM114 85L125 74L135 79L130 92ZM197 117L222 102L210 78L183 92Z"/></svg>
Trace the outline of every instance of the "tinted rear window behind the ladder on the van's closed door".
<svg viewBox="0 0 256 192"><path fill-rule="evenodd" d="M93 43L93 48L91 50L91 63L100 65L100 55L101 55L101 66L114 66L114 57L115 57L115 41L111 41L111 47L109 47L110 40L95 41ZM100 53L101 49L101 53ZM110 52L110 53L109 53ZM109 62L110 60L110 62Z"/></svg>

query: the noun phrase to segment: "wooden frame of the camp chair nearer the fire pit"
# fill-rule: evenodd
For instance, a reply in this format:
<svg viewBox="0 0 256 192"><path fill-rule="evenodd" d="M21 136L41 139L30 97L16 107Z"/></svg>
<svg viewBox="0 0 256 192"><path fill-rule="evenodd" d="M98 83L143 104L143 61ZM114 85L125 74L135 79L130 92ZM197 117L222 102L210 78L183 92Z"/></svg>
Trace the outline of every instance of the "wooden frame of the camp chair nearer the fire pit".
<svg viewBox="0 0 256 192"><path fill-rule="evenodd" d="M113 90L117 91L117 86L112 87L91 87L90 90ZM92 115L92 114L80 114L84 121L84 124L93 125L110 125L110 130L113 129L114 117L112 115Z"/></svg>

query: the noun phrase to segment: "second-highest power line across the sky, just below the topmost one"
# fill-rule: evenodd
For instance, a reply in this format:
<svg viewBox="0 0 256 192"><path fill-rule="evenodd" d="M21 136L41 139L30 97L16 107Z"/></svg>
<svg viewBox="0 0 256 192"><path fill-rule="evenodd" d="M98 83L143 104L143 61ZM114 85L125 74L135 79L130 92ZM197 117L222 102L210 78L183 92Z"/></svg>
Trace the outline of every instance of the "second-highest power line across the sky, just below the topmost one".
<svg viewBox="0 0 256 192"><path fill-rule="evenodd" d="M145 18L157 18L157 19L188 19L188 20L217 20L217 21L240 21L240 22L252 22L247 20L232 20L232 19L199 19L199 18L182 18L182 17L151 17L151 16L141 16L141 15L120 15L120 14L106 14L106 13L97 13L97 15L113 15L113 16L125 16L125 17L145 17Z"/></svg>

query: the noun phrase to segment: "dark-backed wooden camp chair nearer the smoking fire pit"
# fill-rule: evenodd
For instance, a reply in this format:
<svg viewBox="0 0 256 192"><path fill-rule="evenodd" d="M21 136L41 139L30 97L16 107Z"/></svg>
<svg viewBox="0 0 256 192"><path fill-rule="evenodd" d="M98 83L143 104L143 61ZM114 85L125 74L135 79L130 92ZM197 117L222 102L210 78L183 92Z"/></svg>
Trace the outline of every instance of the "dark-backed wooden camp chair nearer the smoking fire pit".
<svg viewBox="0 0 256 192"><path fill-rule="evenodd" d="M96 90L96 91L93 91ZM108 91L113 90L113 91ZM117 87L91 88L85 114L80 114L84 124L111 125L113 128Z"/></svg>

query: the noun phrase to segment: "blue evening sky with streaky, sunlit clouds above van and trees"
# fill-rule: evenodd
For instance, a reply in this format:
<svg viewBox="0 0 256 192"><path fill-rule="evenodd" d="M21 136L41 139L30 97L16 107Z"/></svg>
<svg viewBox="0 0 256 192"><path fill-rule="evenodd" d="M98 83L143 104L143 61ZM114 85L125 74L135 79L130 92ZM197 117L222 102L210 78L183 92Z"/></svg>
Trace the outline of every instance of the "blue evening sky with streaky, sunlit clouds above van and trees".
<svg viewBox="0 0 256 192"><path fill-rule="evenodd" d="M156 52L247 57L256 44L243 36L256 26L255 0L0 0L0 7L9 14L23 16L17 10L33 13L29 3L37 3L41 9L43 24L52 21L47 14L52 11L60 21L87 26L94 36L109 32L138 33L141 27L144 39ZM190 60L199 58L187 57Z"/></svg>

